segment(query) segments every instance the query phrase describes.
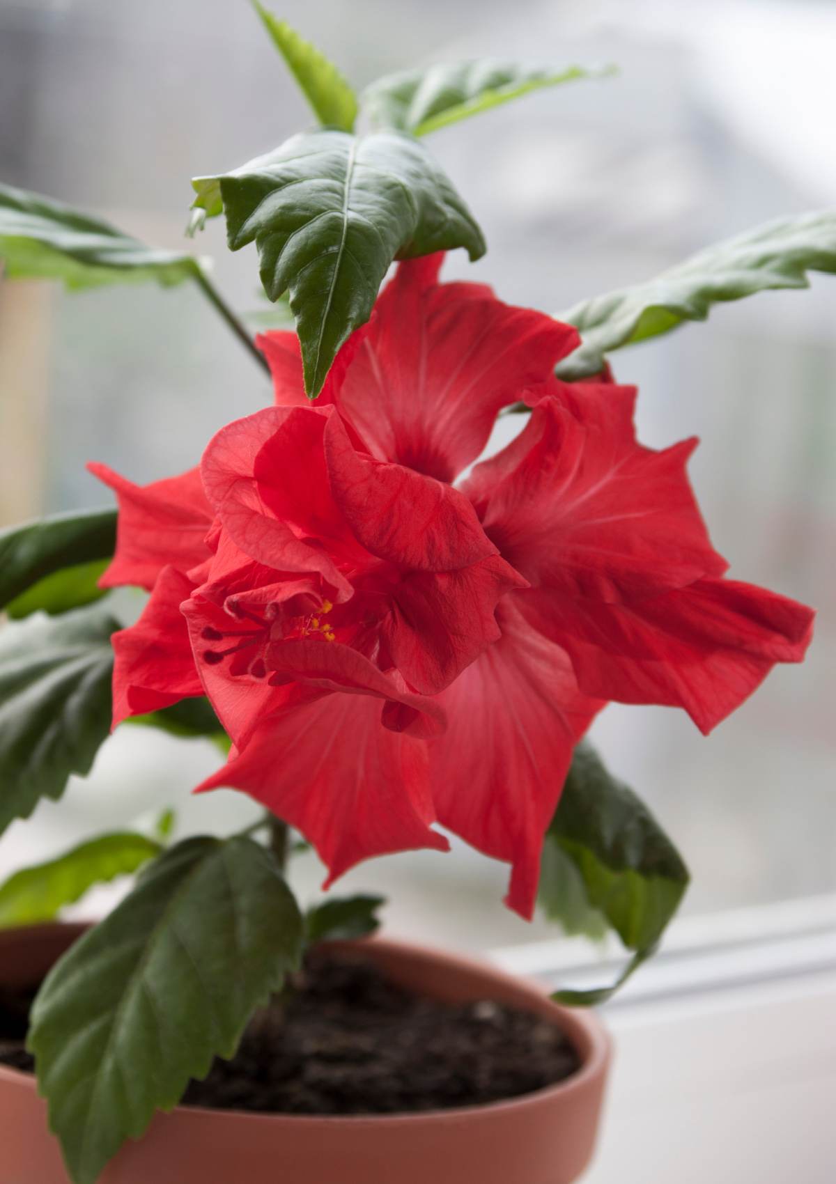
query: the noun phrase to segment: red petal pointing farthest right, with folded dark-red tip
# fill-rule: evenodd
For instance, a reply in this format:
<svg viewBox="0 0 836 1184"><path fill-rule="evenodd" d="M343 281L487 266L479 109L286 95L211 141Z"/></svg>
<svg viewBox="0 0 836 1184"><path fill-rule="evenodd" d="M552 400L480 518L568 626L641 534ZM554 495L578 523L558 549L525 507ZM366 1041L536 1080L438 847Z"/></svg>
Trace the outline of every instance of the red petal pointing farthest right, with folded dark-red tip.
<svg viewBox="0 0 836 1184"><path fill-rule="evenodd" d="M777 662L800 662L812 636L811 609L734 580L697 580L630 605L522 596L526 616L568 651L587 694L683 707L703 733Z"/></svg>

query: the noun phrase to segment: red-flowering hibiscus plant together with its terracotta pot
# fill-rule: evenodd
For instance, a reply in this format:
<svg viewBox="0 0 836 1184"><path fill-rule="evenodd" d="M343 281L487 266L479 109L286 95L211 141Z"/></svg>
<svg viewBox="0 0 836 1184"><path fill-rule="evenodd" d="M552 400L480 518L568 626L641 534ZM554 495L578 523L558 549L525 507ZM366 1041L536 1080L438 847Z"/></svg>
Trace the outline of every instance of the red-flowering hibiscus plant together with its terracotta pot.
<svg viewBox="0 0 836 1184"><path fill-rule="evenodd" d="M173 843L163 818L94 836L0 887L2 1184L570 1184L609 1058L585 1008L654 952L688 882L583 736L611 700L707 733L812 628L726 577L694 442L641 445L607 358L836 270L836 217L772 223L557 318L510 307L440 278L444 252L485 244L424 136L590 71L458 63L358 101L258 13L321 127L198 178L191 230L223 214L232 250L255 242L295 332L253 341L204 260L0 188L6 279L194 283L274 387L195 440L186 474L139 485L91 464L117 511L0 533L0 830L127 721L216 739L225 762L198 790L264 806L234 835ZM462 481L506 413L521 431ZM147 593L134 622L123 585ZM443 851L433 823L510 864L522 916L539 900L567 928L609 926L631 954L619 980L546 998L364 941L379 897L296 900L300 843L330 884ZM118 875L136 880L104 920L57 921Z"/></svg>

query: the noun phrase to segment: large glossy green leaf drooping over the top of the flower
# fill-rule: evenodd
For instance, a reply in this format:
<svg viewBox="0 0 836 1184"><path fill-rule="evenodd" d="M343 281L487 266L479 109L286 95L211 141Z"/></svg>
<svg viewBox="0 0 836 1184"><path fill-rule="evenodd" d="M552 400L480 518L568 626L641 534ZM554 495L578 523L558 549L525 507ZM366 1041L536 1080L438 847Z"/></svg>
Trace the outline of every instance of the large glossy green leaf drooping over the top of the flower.
<svg viewBox="0 0 836 1184"><path fill-rule="evenodd" d="M194 180L195 206L226 212L233 251L258 246L270 300L285 289L314 398L340 346L364 324L394 258L465 246L482 232L426 149L399 133L294 136L224 176Z"/></svg>

